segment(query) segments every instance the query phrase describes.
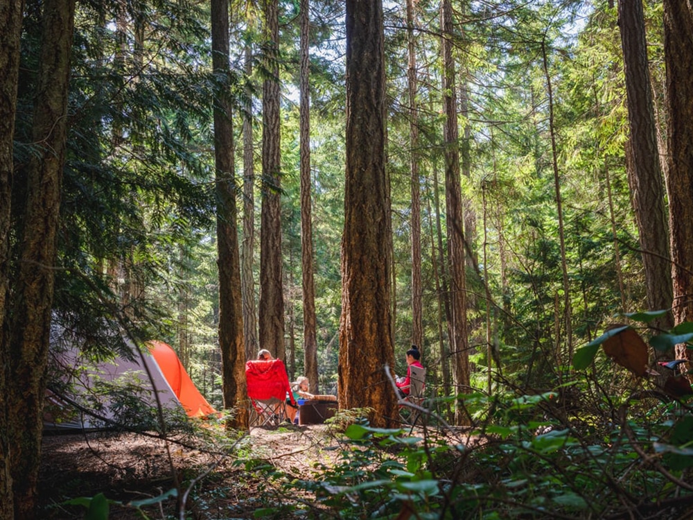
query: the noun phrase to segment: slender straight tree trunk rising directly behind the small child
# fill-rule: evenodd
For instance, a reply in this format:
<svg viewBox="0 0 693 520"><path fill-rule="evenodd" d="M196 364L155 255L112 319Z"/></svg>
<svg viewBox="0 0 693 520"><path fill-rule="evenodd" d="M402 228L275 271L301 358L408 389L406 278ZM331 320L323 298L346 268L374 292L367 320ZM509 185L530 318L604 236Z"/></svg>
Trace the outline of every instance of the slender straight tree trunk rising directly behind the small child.
<svg viewBox="0 0 693 520"><path fill-rule="evenodd" d="M301 0L301 269L304 297L304 369L319 393L317 374L317 323L315 319L315 281L313 279L313 202L310 199L310 36L308 0Z"/></svg>

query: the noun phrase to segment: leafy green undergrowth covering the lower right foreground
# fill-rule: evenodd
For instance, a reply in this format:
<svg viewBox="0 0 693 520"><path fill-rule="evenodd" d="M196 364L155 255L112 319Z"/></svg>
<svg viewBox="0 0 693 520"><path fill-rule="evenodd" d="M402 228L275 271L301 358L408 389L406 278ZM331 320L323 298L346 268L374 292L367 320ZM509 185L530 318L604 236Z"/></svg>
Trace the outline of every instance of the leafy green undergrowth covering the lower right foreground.
<svg viewBox="0 0 693 520"><path fill-rule="evenodd" d="M266 506L264 514L307 518L328 512L343 519L396 518L407 511L431 519L588 518L630 507L644 511L649 503L688 493L677 492L663 471L683 478L693 460L690 415L673 428L670 419L651 424L631 417L590 432L579 426L586 406L572 417L552 415L558 395L487 398L486 417L495 419L477 424L464 440L446 428L411 435L353 423L337 437L338 462L316 467L310 478L264 464L247 468L283 489L281 506ZM642 464L647 455L634 446L663 455L663 466ZM315 502L296 499L306 494ZM640 505L627 505L633 497Z"/></svg>

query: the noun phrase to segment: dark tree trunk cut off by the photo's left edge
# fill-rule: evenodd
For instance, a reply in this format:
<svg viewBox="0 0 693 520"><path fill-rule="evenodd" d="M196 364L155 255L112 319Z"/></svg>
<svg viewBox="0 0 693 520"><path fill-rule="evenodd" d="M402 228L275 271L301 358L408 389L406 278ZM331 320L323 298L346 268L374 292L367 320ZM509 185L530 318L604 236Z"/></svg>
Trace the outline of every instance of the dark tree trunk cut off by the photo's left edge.
<svg viewBox="0 0 693 520"><path fill-rule="evenodd" d="M10 201L12 193L12 139L17 114L19 40L24 2L0 4L0 520L14 518L10 470L8 383L12 381L8 338L5 335L10 250Z"/></svg>

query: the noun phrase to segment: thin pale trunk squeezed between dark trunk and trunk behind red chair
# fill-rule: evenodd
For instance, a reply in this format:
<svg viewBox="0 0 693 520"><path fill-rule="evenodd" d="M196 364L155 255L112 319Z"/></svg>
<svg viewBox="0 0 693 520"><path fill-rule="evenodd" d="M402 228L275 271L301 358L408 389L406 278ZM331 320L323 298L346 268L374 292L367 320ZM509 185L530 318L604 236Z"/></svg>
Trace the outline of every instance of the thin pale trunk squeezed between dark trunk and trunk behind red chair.
<svg viewBox="0 0 693 520"><path fill-rule="evenodd" d="M252 48L245 46L245 74L252 75ZM245 93L243 110L243 246L240 252L240 284L243 289L243 335L245 356L252 359L258 352L257 318L255 309L255 281L253 257L255 242L255 159L253 146L253 103L251 89Z"/></svg>

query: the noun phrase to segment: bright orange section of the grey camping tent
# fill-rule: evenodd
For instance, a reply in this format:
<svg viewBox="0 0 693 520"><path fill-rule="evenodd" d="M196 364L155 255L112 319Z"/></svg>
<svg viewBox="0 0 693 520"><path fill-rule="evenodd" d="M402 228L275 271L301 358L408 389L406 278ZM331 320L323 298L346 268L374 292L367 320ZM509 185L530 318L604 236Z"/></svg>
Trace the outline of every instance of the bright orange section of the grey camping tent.
<svg viewBox="0 0 693 520"><path fill-rule="evenodd" d="M157 340L148 342L148 345L171 390L190 417L204 417L217 413L207 399L200 394L200 390L195 387L195 383L188 376L188 372L185 371L185 367L170 345Z"/></svg>

